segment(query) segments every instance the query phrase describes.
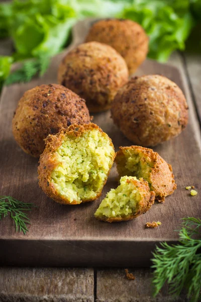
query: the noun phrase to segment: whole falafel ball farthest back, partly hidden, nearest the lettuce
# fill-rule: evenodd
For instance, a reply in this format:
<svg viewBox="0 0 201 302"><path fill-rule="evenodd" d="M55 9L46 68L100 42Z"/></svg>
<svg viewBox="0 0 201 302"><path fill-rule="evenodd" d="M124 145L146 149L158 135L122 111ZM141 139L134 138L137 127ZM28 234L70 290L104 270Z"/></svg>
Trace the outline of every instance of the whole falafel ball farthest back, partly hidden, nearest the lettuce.
<svg viewBox="0 0 201 302"><path fill-rule="evenodd" d="M132 74L146 59L149 39L136 22L124 19L101 20L94 23L86 42L97 41L115 48L125 58Z"/></svg>

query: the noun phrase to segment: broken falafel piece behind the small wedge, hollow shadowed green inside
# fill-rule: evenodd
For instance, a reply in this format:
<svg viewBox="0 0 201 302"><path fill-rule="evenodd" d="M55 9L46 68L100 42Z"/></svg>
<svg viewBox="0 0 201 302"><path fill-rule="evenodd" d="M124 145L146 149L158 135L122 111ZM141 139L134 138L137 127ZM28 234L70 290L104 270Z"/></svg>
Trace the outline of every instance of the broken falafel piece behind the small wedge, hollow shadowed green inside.
<svg viewBox="0 0 201 302"><path fill-rule="evenodd" d="M119 177L142 177L148 182L150 190L155 192L159 202L163 202L176 189L171 165L152 149L141 146L120 147L116 163Z"/></svg>

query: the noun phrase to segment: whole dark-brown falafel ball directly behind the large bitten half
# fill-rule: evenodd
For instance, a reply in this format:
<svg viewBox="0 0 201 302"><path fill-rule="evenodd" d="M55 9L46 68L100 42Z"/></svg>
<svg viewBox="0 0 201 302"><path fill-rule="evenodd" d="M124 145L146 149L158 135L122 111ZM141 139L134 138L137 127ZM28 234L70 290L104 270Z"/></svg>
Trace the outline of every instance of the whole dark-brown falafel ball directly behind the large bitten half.
<svg viewBox="0 0 201 302"><path fill-rule="evenodd" d="M39 157L48 134L84 123L90 123L90 116L83 99L61 85L41 85L20 99L13 117L13 135L24 152Z"/></svg>

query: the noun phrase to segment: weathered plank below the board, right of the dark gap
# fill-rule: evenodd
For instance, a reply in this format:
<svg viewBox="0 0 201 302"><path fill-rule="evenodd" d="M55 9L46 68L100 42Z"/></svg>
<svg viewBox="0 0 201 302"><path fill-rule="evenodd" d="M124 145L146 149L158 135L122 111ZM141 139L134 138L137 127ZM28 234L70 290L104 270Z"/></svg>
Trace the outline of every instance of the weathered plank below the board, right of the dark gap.
<svg viewBox="0 0 201 302"><path fill-rule="evenodd" d="M153 298L150 269L129 268L135 280L126 278L124 269L99 269L97 271L97 302L187 302L185 294L175 298L168 294L164 287L156 298Z"/></svg>

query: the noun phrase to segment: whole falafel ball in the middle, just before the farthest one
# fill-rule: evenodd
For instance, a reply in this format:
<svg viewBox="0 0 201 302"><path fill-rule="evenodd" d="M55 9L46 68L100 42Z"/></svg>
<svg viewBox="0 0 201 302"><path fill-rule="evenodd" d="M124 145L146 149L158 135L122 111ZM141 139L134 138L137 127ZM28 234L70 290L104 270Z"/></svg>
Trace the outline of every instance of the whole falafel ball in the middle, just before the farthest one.
<svg viewBox="0 0 201 302"><path fill-rule="evenodd" d="M90 112L111 107L117 91L128 81L124 58L112 47L84 43L71 50L59 65L58 82L86 100Z"/></svg>

